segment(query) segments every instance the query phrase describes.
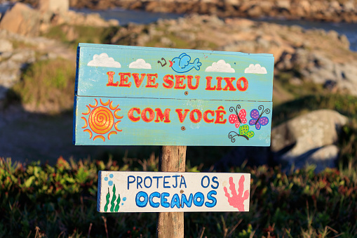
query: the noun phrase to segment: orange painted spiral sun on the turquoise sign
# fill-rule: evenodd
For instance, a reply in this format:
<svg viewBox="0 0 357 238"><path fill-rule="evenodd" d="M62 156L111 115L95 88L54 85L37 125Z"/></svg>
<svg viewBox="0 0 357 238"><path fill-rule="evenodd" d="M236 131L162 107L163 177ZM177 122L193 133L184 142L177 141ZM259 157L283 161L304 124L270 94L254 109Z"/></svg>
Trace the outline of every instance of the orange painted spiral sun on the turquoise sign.
<svg viewBox="0 0 357 238"><path fill-rule="evenodd" d="M89 133L90 139L92 139L94 134L93 140L99 138L103 141L105 141L106 138L110 140L111 135L117 134L116 131L123 131L118 128L118 124L121 122L120 119L123 118L118 115L121 109L118 108L119 104L114 107L113 101L111 100L108 100L107 103L103 103L100 98L100 105L98 105L97 99L94 100L94 105L86 105L88 112L82 113L85 116L81 117L81 119L84 120L83 131Z"/></svg>

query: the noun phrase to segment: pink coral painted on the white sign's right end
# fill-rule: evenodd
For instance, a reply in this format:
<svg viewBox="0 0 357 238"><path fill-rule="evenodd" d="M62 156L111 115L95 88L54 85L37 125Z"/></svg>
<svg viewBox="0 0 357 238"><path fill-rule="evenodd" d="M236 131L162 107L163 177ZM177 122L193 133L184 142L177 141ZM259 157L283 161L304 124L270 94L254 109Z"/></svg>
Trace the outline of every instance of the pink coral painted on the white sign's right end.
<svg viewBox="0 0 357 238"><path fill-rule="evenodd" d="M233 182L233 178L229 177L229 190L231 190L231 195L227 192L227 187L223 187L224 194L228 198L229 205L233 206L234 208L238 209L238 211L244 211L244 204L243 202L248 199L249 197L249 190L244 190L244 176L241 176L238 182L238 194L236 192L236 185Z"/></svg>

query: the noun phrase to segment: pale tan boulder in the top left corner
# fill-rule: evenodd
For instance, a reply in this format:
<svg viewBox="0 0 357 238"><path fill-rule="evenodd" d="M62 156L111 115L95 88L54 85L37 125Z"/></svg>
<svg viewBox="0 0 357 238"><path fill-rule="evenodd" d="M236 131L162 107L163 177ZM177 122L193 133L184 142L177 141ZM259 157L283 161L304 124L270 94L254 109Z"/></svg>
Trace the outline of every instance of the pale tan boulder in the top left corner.
<svg viewBox="0 0 357 238"><path fill-rule="evenodd" d="M36 36L39 34L40 23L40 15L36 10L26 4L16 3L1 18L0 29L26 36Z"/></svg>

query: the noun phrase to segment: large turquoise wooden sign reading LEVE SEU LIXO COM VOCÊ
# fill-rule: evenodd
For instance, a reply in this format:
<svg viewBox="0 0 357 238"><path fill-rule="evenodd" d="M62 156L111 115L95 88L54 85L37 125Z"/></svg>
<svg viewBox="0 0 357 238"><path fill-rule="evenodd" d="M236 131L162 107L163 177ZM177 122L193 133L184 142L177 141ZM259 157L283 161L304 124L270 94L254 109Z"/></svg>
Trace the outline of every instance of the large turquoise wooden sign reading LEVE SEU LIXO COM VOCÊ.
<svg viewBox="0 0 357 238"><path fill-rule="evenodd" d="M77 56L75 145L270 145L270 54L79 44Z"/></svg>

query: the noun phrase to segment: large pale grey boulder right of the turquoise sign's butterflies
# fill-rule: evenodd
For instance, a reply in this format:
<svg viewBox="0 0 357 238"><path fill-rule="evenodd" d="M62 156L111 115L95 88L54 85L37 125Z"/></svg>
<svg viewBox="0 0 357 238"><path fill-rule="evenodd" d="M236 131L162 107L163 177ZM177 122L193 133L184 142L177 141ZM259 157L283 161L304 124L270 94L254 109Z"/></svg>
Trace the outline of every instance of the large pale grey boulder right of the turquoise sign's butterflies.
<svg viewBox="0 0 357 238"><path fill-rule="evenodd" d="M338 112L317 110L276 126L271 130L274 160L287 166L321 161L326 152L317 151L336 143L339 129L346 122L347 118Z"/></svg>

